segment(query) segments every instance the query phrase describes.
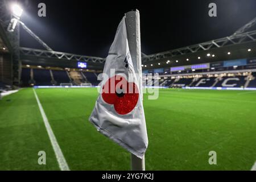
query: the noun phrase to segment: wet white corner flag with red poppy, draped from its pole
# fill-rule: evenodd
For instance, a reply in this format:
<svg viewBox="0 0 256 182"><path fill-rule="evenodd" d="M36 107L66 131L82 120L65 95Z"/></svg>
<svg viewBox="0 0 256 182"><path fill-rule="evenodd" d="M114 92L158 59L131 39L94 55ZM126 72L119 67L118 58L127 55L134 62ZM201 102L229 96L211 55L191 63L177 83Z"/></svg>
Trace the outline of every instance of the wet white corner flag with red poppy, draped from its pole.
<svg viewBox="0 0 256 182"><path fill-rule="evenodd" d="M141 54L140 43L137 46L137 53ZM89 121L100 133L142 159L148 139L142 104L142 73L138 65L141 63L134 66L131 60L124 16L106 58L101 92Z"/></svg>

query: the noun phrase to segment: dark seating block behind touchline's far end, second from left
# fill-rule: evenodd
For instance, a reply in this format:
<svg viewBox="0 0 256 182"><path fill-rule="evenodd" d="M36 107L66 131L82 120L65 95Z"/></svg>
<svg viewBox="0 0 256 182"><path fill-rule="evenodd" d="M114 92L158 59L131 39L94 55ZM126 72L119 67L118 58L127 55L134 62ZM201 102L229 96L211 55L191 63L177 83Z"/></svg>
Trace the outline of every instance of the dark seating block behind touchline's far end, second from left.
<svg viewBox="0 0 256 182"><path fill-rule="evenodd" d="M47 86L51 84L51 75L48 69L33 69L35 85Z"/></svg>

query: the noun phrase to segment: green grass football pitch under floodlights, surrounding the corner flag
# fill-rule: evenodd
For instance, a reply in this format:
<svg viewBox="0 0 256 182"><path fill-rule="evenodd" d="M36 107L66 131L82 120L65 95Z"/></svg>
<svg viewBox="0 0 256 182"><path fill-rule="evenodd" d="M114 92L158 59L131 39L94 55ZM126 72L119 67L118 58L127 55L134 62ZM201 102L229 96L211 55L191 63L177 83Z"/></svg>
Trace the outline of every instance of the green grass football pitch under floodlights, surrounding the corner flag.
<svg viewBox="0 0 256 182"><path fill-rule="evenodd" d="M35 89L71 170L129 170L130 154L88 118L96 88ZM160 89L144 94L146 170L250 170L256 160L256 92ZM46 165L38 152L46 152ZM209 151L217 164L210 165ZM59 170L32 88L0 100L0 170Z"/></svg>

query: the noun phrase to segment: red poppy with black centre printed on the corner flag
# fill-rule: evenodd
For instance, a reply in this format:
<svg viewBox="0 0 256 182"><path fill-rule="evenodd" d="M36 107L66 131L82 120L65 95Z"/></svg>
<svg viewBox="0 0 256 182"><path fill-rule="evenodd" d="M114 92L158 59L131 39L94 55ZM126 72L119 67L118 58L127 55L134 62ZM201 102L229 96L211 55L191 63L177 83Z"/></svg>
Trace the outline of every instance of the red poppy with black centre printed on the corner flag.
<svg viewBox="0 0 256 182"><path fill-rule="evenodd" d="M108 104L113 104L118 114L128 114L137 105L138 86L134 82L127 82L123 76L116 75L109 78L102 90L103 100Z"/></svg>

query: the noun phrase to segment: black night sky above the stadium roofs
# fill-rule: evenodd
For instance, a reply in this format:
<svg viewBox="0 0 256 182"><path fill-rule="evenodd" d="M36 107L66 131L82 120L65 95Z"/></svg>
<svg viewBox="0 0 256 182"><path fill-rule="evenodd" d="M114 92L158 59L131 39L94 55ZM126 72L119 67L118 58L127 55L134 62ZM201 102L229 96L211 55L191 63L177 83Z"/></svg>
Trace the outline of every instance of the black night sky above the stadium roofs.
<svg viewBox="0 0 256 182"><path fill-rule="evenodd" d="M22 21L53 50L101 57L108 55L118 23L129 10L140 11L146 54L229 36L256 16L255 0L20 2ZM46 3L45 18L38 16L40 2ZM208 16L210 2L217 4L217 18ZM23 29L20 39L22 47L42 48Z"/></svg>

